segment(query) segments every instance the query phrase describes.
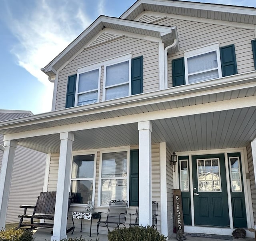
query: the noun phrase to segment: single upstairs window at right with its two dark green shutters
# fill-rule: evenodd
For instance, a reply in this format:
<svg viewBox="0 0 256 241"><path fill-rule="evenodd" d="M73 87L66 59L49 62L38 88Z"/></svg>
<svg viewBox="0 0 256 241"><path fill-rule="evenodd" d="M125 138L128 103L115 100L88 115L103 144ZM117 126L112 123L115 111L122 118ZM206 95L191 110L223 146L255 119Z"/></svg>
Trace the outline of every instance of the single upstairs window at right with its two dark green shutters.
<svg viewBox="0 0 256 241"><path fill-rule="evenodd" d="M172 60L172 86L194 84L237 74L234 44L211 44L184 51L184 57Z"/></svg>

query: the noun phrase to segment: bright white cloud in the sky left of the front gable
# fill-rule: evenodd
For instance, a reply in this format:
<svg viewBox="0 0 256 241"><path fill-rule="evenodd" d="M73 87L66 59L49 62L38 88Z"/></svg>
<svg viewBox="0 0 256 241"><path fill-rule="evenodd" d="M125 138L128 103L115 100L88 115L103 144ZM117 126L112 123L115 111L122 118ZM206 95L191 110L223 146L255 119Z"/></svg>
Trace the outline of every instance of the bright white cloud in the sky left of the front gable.
<svg viewBox="0 0 256 241"><path fill-rule="evenodd" d="M79 0L35 3L23 16L9 13L10 30L18 39L12 53L20 66L49 86L48 77L40 69L64 50L91 20L82 11L84 5Z"/></svg>

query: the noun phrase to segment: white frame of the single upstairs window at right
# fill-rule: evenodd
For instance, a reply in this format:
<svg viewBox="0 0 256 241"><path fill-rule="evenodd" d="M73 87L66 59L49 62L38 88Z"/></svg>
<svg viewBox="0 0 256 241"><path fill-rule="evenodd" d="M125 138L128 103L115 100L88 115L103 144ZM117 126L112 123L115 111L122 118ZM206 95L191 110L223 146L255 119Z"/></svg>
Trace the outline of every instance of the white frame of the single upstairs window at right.
<svg viewBox="0 0 256 241"><path fill-rule="evenodd" d="M207 53L214 52L214 51L216 51L216 54L217 54L218 76L219 76L218 78L222 78L222 70L221 70L221 62L220 62L220 44L215 43L215 44L202 46L200 48L194 48L192 50L184 51L184 65L185 65L186 85L199 83L199 82L188 83L188 76L189 76L189 74L188 74L188 59L191 58L191 57L199 56L199 55L202 55L202 54L207 54ZM210 70L216 70L216 68L209 69L207 71L194 72L191 75L208 72ZM205 81L210 81L210 80L203 80L203 81L200 81L200 82L205 82Z"/></svg>

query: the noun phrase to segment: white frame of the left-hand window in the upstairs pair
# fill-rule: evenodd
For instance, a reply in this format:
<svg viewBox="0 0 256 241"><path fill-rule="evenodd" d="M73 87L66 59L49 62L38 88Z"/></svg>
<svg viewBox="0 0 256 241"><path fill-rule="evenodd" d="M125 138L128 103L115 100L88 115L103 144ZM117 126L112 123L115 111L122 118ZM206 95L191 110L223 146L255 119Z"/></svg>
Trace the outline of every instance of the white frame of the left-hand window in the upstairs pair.
<svg viewBox="0 0 256 241"><path fill-rule="evenodd" d="M97 89L93 89L93 90L87 90L84 92L79 92L78 93L78 85L79 85L79 76L80 74L84 74L86 72L90 72L93 70L98 70L99 72L99 76L98 76L98 88ZM97 96L97 102L100 101L100 76L101 76L101 66L98 66L97 68L95 68L94 66L88 66L88 67L84 67L84 68L80 68L77 71L77 81L76 81L76 97L75 97L75 106L78 106L78 96L81 94L85 94L85 93L90 93L90 92L94 92L94 91L98 91L98 96ZM92 103L90 103L92 104ZM88 104L89 105L89 104ZM85 106L85 105L82 105Z"/></svg>

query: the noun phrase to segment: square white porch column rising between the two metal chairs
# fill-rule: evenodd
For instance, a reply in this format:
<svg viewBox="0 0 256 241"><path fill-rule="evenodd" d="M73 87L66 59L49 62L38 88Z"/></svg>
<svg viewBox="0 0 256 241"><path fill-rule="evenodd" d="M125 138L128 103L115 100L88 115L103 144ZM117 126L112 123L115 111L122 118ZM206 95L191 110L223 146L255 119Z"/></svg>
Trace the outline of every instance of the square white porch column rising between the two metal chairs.
<svg viewBox="0 0 256 241"><path fill-rule="evenodd" d="M138 123L139 130L139 225L152 225L151 133L152 123Z"/></svg>

